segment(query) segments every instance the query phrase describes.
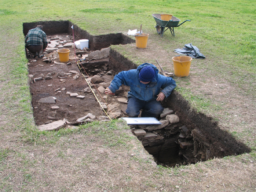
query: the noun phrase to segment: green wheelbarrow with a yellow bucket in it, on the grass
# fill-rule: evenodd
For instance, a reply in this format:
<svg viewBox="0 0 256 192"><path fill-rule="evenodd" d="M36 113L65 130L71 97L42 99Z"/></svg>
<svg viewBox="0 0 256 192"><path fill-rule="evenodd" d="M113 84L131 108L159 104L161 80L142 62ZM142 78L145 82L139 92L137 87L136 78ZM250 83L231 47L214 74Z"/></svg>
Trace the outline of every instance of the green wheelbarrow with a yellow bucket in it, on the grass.
<svg viewBox="0 0 256 192"><path fill-rule="evenodd" d="M154 17L154 19L156 21L156 26L155 26L156 32L158 34L160 34L161 37L163 37L163 33L168 29L170 29L171 34L173 36L175 36L174 27L181 26L186 21L190 21L190 20L186 20L186 21L182 22L181 24L179 24L180 20L174 16L172 16L171 20L169 20L169 21L161 20L161 14L152 14L152 16ZM167 28L167 29L165 29L165 28Z"/></svg>

